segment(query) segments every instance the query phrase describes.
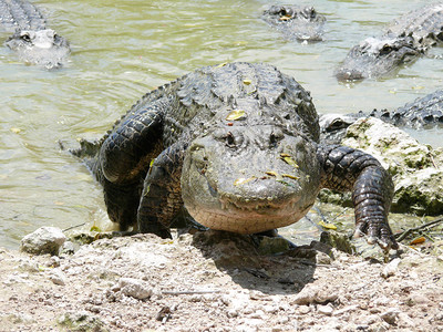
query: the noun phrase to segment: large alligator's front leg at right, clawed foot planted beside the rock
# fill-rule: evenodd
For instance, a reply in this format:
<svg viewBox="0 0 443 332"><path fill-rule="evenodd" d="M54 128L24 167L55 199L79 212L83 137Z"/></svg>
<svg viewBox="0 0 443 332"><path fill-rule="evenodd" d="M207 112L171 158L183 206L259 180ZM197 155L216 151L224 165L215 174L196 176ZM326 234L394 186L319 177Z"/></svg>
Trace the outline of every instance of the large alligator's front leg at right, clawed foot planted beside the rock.
<svg viewBox="0 0 443 332"><path fill-rule="evenodd" d="M396 249L399 246L388 224L394 186L379 160L361 151L339 145L319 145L318 157L322 187L352 190L354 237L367 234L370 243L378 241L385 250Z"/></svg>

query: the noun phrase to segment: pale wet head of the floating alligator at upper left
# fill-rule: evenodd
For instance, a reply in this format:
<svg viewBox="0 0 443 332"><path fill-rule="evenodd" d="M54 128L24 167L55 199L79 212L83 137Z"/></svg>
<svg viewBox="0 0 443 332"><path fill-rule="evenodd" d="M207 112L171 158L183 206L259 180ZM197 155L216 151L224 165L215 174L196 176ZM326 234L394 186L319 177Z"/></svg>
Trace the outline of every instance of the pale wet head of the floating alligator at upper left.
<svg viewBox="0 0 443 332"><path fill-rule="evenodd" d="M70 53L69 42L51 29L17 30L6 44L18 52L22 61L48 69L60 66L62 60Z"/></svg>

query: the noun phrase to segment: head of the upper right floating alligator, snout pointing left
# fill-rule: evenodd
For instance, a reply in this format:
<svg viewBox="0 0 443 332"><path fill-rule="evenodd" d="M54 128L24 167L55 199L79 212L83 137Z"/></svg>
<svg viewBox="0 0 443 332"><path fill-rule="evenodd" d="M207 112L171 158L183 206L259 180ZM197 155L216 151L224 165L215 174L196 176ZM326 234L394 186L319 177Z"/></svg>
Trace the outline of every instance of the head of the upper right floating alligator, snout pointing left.
<svg viewBox="0 0 443 332"><path fill-rule="evenodd" d="M411 62L420 55L411 37L383 35L368 38L353 46L342 65L336 71L339 81L358 81L383 76L399 65Z"/></svg>

